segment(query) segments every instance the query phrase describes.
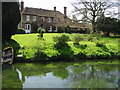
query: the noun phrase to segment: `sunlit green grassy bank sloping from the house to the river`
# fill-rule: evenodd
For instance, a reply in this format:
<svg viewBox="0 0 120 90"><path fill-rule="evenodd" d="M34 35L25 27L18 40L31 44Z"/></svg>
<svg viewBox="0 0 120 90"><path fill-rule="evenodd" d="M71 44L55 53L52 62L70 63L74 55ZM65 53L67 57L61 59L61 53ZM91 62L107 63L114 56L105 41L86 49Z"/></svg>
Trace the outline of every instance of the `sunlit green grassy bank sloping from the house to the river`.
<svg viewBox="0 0 120 90"><path fill-rule="evenodd" d="M59 33L45 33L43 39L38 39L38 34L17 34L12 37L22 47L19 54L24 59L31 60L83 60L83 59L108 59L119 57L119 38L80 35L87 39L75 44L73 39L77 34L66 34L70 40L67 47L56 48L53 37ZM92 38L91 38L92 37ZM94 39L94 38L95 39ZM98 45L97 45L98 44Z"/></svg>

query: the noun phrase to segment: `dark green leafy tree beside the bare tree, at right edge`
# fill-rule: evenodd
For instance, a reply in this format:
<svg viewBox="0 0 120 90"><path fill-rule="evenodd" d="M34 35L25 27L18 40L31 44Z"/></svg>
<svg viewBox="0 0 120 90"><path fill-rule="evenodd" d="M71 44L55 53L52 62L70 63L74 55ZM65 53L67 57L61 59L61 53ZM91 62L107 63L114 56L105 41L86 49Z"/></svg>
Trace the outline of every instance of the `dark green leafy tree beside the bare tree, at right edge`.
<svg viewBox="0 0 120 90"><path fill-rule="evenodd" d="M111 17L101 16L97 19L97 29L103 31L107 36L110 36L110 33L120 33L120 20Z"/></svg>

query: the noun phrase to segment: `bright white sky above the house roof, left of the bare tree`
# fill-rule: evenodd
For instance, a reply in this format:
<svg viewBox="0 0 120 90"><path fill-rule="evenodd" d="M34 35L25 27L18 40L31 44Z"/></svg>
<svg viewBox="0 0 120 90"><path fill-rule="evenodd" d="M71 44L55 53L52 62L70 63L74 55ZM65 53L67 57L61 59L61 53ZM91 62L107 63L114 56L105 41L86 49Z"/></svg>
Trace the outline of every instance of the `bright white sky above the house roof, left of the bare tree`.
<svg viewBox="0 0 120 90"><path fill-rule="evenodd" d="M21 1L21 0L19 0ZM64 7L67 7L67 15L71 17L71 13L74 10L71 5L75 0L22 0L24 1L25 7L34 7L53 10L53 7L56 6L56 10L64 13Z"/></svg>

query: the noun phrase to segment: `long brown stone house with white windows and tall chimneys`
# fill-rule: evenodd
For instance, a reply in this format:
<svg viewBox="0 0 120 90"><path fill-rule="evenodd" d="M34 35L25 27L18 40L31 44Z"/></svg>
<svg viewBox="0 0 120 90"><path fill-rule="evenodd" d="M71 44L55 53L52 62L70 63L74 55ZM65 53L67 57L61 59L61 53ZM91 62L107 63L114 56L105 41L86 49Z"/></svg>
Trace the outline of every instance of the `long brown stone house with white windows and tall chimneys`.
<svg viewBox="0 0 120 90"><path fill-rule="evenodd" d="M20 4L21 22L19 27L24 28L26 33L37 32L38 28L44 28L46 32L64 32L65 28L87 29L86 25L72 22L67 17L67 7L64 7L64 14L56 10L46 10L41 8L24 8L24 2Z"/></svg>

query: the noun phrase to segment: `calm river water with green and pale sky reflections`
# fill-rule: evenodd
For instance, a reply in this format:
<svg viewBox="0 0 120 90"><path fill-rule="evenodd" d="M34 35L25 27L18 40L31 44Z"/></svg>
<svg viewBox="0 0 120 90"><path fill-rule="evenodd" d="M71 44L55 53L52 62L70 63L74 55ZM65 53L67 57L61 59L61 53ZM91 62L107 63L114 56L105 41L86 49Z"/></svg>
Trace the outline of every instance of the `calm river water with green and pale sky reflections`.
<svg viewBox="0 0 120 90"><path fill-rule="evenodd" d="M107 62L3 65L3 88L118 88L120 69Z"/></svg>

